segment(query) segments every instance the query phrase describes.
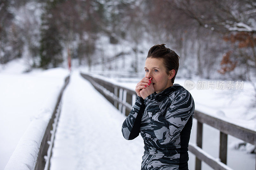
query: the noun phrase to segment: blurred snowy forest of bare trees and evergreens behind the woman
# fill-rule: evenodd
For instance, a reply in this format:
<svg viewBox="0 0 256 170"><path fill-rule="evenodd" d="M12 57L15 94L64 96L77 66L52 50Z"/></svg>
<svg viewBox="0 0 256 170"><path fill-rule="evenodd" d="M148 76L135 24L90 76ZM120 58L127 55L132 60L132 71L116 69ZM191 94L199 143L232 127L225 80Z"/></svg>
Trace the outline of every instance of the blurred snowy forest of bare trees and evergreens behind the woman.
<svg viewBox="0 0 256 170"><path fill-rule="evenodd" d="M253 84L255 18L255 0L0 0L0 65L141 72L164 43L183 77Z"/></svg>

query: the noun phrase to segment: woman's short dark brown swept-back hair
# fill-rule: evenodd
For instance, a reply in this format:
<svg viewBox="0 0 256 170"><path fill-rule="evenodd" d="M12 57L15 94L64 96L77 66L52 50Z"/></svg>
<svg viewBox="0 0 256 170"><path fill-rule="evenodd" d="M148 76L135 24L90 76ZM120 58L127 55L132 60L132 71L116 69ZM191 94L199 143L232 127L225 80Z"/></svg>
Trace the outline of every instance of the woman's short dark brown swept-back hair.
<svg viewBox="0 0 256 170"><path fill-rule="evenodd" d="M169 74L169 71L172 69L175 70L175 75L172 78L172 83L174 83L174 79L179 69L179 59L180 57L170 48L166 48L165 44L157 44L151 47L148 51L147 58L163 58L164 67L166 73ZM146 59L147 59L146 58Z"/></svg>

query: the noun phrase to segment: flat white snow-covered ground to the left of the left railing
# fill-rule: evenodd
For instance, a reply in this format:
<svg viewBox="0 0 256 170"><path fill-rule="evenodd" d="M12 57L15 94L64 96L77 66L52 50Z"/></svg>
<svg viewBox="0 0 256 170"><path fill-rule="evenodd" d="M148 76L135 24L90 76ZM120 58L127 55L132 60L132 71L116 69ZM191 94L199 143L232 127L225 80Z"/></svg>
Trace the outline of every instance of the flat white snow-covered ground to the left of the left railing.
<svg viewBox="0 0 256 170"><path fill-rule="evenodd" d="M26 141L23 135L31 130L31 123L51 116L69 74L63 68L22 73L24 70L20 59L0 67L0 169L4 169L18 143ZM40 129L44 125L39 126L44 132ZM35 140L40 137L34 136Z"/></svg>

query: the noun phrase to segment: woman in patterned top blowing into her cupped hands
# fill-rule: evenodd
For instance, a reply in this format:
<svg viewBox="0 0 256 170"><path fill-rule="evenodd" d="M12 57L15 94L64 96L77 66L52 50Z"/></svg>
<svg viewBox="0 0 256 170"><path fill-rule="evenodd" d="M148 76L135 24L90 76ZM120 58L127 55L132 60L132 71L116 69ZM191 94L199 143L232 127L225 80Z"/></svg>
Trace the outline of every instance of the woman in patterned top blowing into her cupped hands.
<svg viewBox="0 0 256 170"><path fill-rule="evenodd" d="M181 85L173 84L179 56L165 44L150 48L145 77L136 85L136 101L122 126L125 139L141 134L141 170L188 169L188 142L195 103Z"/></svg>

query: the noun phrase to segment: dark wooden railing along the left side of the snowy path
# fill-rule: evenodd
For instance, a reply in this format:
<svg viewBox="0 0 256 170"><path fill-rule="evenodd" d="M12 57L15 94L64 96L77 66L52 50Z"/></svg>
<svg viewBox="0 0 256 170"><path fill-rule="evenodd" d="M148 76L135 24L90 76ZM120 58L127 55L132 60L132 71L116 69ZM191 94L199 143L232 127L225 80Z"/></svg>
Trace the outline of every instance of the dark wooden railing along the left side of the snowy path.
<svg viewBox="0 0 256 170"><path fill-rule="evenodd" d="M58 121L58 120L55 119L56 118L56 113L57 113L59 105L60 105L60 100L61 100L61 97L62 97L62 93L63 93L64 89L66 88L66 86L68 85L68 82L69 82L69 76L65 78L65 84L63 85L62 89L60 90L58 100L56 102L54 111L52 113L52 117L51 117L51 119L50 119L50 121L47 125L46 130L45 130L44 137L42 139L42 142L41 142L41 145L40 145L40 148L39 148L35 170L43 170L45 168L45 162L46 162L45 161L45 156L47 156L48 148L49 148L49 146L51 146L51 144L50 144L51 138L52 138L52 136L54 136L54 133L55 133L55 131L52 131L53 130L53 123L55 121ZM49 162L50 158L51 158L51 155L52 155L52 150L50 152L48 152L48 154L49 155L48 155L47 159L48 159L48 162ZM47 165L46 169L49 169L49 168L50 168L50 164Z"/></svg>

